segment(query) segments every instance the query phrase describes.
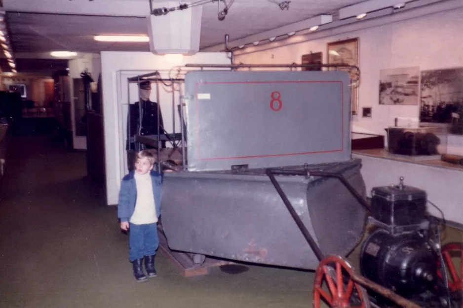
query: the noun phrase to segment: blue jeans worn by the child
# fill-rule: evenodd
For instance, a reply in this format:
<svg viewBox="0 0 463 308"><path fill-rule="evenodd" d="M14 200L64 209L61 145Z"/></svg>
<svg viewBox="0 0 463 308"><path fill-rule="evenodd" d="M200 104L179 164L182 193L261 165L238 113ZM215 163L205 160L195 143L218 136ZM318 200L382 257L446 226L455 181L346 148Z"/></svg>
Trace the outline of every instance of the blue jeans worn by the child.
<svg viewBox="0 0 463 308"><path fill-rule="evenodd" d="M144 256L153 256L156 254L157 247L159 246L157 223L147 225L134 225L130 223L129 230L130 262L143 259Z"/></svg>

